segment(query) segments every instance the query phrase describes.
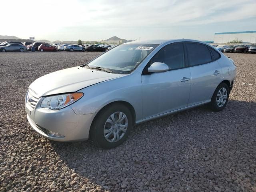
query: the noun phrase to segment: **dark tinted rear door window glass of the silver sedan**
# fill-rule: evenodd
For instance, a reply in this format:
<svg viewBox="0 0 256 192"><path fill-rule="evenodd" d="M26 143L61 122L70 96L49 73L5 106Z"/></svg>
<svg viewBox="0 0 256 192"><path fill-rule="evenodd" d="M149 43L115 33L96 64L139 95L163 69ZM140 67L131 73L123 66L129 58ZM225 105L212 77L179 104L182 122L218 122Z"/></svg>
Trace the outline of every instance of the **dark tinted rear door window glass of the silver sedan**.
<svg viewBox="0 0 256 192"><path fill-rule="evenodd" d="M190 67L212 61L212 56L207 46L198 43L187 43L186 45Z"/></svg>

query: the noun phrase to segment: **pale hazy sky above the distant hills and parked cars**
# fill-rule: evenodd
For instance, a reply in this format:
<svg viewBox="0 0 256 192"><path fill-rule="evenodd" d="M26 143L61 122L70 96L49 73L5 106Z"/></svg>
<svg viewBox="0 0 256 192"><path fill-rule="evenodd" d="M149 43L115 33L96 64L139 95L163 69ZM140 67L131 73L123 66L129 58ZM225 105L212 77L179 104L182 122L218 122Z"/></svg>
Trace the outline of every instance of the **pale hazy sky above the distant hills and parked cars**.
<svg viewBox="0 0 256 192"><path fill-rule="evenodd" d="M256 0L7 0L0 7L0 35L24 39L214 40L215 32L256 30Z"/></svg>

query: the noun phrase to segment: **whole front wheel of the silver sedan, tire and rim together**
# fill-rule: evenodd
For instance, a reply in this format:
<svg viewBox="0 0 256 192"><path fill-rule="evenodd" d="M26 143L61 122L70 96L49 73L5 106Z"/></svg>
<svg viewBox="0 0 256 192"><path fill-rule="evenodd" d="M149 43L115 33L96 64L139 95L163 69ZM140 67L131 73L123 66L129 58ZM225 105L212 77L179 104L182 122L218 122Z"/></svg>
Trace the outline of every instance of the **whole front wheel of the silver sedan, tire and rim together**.
<svg viewBox="0 0 256 192"><path fill-rule="evenodd" d="M115 148L126 140L132 125L132 114L126 106L110 105L97 114L90 136L100 148Z"/></svg>

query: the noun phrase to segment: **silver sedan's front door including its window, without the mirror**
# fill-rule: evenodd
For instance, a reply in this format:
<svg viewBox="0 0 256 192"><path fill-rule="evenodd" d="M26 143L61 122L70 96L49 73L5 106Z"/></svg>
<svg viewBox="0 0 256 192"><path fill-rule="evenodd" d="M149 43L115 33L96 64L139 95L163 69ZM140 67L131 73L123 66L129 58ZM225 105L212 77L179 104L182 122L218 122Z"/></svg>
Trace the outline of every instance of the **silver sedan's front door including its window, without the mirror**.
<svg viewBox="0 0 256 192"><path fill-rule="evenodd" d="M167 72L142 75L142 118L150 118L188 106L190 69L185 65L183 43L173 43L158 51L146 68L163 62Z"/></svg>

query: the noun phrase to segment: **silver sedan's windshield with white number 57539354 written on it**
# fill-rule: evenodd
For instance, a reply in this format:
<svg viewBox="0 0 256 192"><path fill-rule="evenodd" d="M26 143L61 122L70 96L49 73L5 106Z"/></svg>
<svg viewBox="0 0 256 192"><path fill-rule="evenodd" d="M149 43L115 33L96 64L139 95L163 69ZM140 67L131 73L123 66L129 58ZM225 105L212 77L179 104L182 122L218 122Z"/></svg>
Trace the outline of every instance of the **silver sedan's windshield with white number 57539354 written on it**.
<svg viewBox="0 0 256 192"><path fill-rule="evenodd" d="M88 66L129 74L157 46L156 44L122 44L92 60Z"/></svg>

